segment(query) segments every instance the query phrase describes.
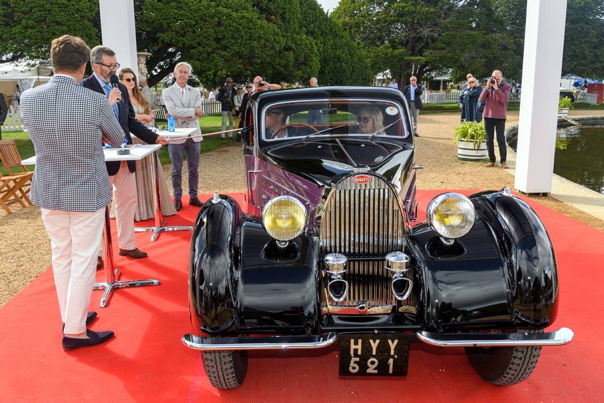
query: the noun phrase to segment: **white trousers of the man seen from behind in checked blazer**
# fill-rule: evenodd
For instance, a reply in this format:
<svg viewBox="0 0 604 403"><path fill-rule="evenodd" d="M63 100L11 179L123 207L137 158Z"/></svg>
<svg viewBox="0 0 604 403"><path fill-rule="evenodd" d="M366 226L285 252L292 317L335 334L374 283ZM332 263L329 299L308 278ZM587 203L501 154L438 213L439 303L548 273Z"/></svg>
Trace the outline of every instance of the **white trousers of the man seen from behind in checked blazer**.
<svg viewBox="0 0 604 403"><path fill-rule="evenodd" d="M54 284L65 334L86 331L86 315L103 239L105 208L97 211L42 210L53 251Z"/></svg>

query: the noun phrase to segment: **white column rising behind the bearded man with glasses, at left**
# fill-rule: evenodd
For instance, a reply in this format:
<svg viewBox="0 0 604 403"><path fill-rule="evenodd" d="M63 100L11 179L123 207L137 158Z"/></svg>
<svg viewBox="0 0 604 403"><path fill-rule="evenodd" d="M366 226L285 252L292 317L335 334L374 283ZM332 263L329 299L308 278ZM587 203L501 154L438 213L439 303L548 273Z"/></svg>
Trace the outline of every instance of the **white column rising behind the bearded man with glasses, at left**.
<svg viewBox="0 0 604 403"><path fill-rule="evenodd" d="M135 74L138 74L134 1L100 0L99 8L103 46L115 52L120 68L131 68Z"/></svg>

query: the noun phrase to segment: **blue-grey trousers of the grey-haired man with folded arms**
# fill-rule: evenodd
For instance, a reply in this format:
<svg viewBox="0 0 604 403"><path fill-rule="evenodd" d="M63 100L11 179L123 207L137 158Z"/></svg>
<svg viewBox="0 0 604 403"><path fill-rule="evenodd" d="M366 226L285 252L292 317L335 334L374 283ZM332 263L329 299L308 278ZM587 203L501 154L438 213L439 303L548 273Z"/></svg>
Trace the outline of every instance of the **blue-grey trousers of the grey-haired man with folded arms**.
<svg viewBox="0 0 604 403"><path fill-rule="evenodd" d="M174 189L174 199L182 198L182 158L184 152L187 153L189 196L197 197L199 185L199 143L189 138L182 144L168 144L168 152L172 159L172 189Z"/></svg>

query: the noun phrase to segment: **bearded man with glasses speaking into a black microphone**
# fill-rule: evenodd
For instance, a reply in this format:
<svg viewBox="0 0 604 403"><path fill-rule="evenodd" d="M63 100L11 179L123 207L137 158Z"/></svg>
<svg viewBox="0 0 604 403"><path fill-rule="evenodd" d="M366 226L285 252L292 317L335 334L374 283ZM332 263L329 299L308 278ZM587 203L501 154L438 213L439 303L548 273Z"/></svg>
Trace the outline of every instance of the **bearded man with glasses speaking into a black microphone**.
<svg viewBox="0 0 604 403"><path fill-rule="evenodd" d="M130 133L133 133L147 144L167 145L167 138L156 135L137 120L126 86L118 83L117 88L112 88L109 83L111 76L114 76L117 69L120 68L115 52L106 46L98 45L92 48L90 62L94 74L88 79L84 79L82 86L109 98L109 104L114 109L115 117L124 131L127 143L132 144ZM113 161L106 165L109 173L109 185L114 187L115 219L120 256L130 256L133 259L146 257L147 253L138 250L137 240L134 236L134 214L137 212L137 182L134 172L137 170L137 165L135 161ZM103 267L101 256L102 251L99 251L97 268Z"/></svg>

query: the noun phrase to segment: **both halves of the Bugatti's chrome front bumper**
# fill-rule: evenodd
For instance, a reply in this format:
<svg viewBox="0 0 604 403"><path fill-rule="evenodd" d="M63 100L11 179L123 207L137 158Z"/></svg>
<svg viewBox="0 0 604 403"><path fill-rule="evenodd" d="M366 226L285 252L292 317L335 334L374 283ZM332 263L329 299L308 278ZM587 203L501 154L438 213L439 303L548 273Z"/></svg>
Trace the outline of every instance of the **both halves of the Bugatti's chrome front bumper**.
<svg viewBox="0 0 604 403"><path fill-rule="evenodd" d="M436 334L417 332L424 343L439 347L510 347L510 346L562 346L573 340L573 331L567 327L551 333L455 333ZM335 343L337 335L269 336L269 337L199 337L186 334L185 346L195 350L274 350L320 349Z"/></svg>

